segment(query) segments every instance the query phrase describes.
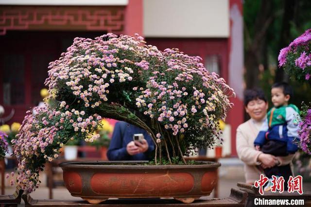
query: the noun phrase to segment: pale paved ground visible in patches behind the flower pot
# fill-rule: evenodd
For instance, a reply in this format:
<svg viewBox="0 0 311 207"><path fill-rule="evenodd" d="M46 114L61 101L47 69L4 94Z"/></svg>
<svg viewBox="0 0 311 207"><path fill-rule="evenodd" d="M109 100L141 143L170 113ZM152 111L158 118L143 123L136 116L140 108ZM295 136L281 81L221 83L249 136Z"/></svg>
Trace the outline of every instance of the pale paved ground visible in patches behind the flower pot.
<svg viewBox="0 0 311 207"><path fill-rule="evenodd" d="M219 168L219 190L218 197L225 198L230 195L231 188L237 188L238 182L244 182L243 163L237 158L221 159L222 166ZM61 174L61 173L60 173ZM45 176L42 175L43 180ZM48 199L49 189L43 185L35 192L31 193L34 199ZM311 190L311 183L303 183L303 190ZM5 194L13 194L15 188L6 187ZM210 196L213 197L213 192ZM57 200L82 200L81 198L72 197L65 187L57 187L53 189L53 199Z"/></svg>

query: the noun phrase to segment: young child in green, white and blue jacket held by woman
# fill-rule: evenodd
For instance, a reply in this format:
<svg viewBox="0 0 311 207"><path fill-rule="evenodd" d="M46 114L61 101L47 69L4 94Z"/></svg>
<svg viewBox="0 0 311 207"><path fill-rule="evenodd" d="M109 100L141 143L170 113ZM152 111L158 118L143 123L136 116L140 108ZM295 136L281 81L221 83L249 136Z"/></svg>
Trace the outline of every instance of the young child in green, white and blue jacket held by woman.
<svg viewBox="0 0 311 207"><path fill-rule="evenodd" d="M262 124L254 141L257 150L275 156L294 154L298 150L293 140L298 138L299 110L294 104L288 104L292 96L293 89L287 83L276 83L272 86L271 98L274 107L268 112L267 121ZM272 186L272 175L283 176L285 183L292 175L289 164L266 168L264 173L269 178L265 190L270 190ZM285 189L286 187L287 185L284 185Z"/></svg>

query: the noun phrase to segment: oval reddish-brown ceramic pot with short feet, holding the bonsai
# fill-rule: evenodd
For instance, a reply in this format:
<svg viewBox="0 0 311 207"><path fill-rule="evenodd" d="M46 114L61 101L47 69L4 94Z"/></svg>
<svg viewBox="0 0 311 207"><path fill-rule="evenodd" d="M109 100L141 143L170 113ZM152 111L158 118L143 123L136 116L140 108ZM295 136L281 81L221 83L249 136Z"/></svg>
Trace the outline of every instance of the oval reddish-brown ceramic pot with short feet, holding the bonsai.
<svg viewBox="0 0 311 207"><path fill-rule="evenodd" d="M91 204L108 198L155 197L192 203L214 189L219 166L220 163L206 161L198 165L165 166L109 161L60 164L70 194Z"/></svg>

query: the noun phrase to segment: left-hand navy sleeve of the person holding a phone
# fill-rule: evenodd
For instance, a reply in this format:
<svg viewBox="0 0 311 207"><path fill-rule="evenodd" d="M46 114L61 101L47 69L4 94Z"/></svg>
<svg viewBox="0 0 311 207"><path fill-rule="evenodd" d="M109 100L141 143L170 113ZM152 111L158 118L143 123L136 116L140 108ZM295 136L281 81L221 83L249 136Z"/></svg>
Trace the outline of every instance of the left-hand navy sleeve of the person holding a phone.
<svg viewBox="0 0 311 207"><path fill-rule="evenodd" d="M117 122L113 130L112 138L107 152L109 160L128 160L129 154L126 147L122 146L123 138L121 133L121 122Z"/></svg>

